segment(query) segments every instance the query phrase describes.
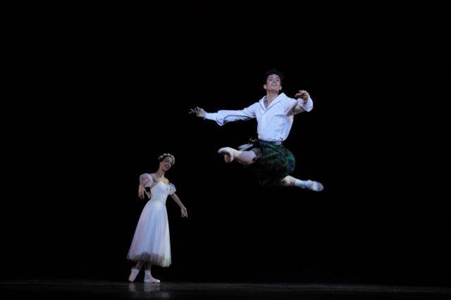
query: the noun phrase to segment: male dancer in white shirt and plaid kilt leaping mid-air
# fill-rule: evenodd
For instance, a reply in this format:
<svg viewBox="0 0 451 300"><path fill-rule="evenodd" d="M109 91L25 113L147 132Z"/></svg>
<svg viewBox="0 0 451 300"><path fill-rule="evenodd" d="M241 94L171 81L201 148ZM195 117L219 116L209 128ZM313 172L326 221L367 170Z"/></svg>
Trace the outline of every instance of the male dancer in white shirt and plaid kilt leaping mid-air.
<svg viewBox="0 0 451 300"><path fill-rule="evenodd" d="M195 113L199 118L214 120L220 126L237 120L257 118L257 140L240 146L238 150L230 147L218 150L226 163L237 161L247 165L262 187L294 186L320 192L323 190L320 182L290 176L295 169L295 156L283 146L283 142L290 133L293 116L311 111L313 101L309 93L303 90L295 95L296 99L291 99L284 93L279 94L282 81L283 75L278 70L268 71L263 86L266 96L242 111L206 113L203 108L196 107L190 113Z"/></svg>

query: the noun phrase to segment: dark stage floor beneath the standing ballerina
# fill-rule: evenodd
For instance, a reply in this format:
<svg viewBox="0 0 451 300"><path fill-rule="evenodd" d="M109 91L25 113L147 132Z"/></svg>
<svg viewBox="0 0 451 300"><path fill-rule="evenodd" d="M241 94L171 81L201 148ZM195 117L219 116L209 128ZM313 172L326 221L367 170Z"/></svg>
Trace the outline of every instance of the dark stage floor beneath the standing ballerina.
<svg viewBox="0 0 451 300"><path fill-rule="evenodd" d="M0 282L1 299L451 299L451 288L283 283Z"/></svg>

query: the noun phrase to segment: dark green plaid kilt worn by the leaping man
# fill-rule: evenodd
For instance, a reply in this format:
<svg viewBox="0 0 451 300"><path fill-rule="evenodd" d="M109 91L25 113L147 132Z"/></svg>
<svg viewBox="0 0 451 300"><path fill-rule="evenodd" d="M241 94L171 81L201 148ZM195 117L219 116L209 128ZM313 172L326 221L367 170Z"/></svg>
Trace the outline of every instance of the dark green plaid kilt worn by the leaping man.
<svg viewBox="0 0 451 300"><path fill-rule="evenodd" d="M277 186L280 180L295 170L295 156L283 144L274 145L259 139L252 142L252 148L261 149L261 156L246 168L254 173L262 187Z"/></svg>

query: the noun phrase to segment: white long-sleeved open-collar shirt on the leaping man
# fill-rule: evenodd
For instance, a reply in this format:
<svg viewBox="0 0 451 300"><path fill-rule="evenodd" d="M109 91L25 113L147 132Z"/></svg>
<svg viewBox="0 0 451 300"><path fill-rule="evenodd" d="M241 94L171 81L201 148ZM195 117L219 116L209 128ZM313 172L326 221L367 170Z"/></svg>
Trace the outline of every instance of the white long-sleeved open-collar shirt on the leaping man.
<svg viewBox="0 0 451 300"><path fill-rule="evenodd" d="M241 111L206 113L205 118L216 121L220 126L237 120L257 118L259 139L267 142L283 142L290 134L295 115L294 108L300 106L307 112L313 109L313 101L310 97L307 103L302 105L302 99L292 99L281 93L269 104L268 108L264 106L265 99L266 96Z"/></svg>

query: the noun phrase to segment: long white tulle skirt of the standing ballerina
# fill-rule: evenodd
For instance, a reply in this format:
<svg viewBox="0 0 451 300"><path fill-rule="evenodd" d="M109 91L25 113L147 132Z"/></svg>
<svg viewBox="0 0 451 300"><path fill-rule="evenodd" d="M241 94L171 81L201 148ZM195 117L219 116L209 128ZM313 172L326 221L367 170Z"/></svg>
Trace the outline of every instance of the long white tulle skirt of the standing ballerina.
<svg viewBox="0 0 451 300"><path fill-rule="evenodd" d="M127 258L152 265L171 265L171 241L166 205L149 200L142 210Z"/></svg>

